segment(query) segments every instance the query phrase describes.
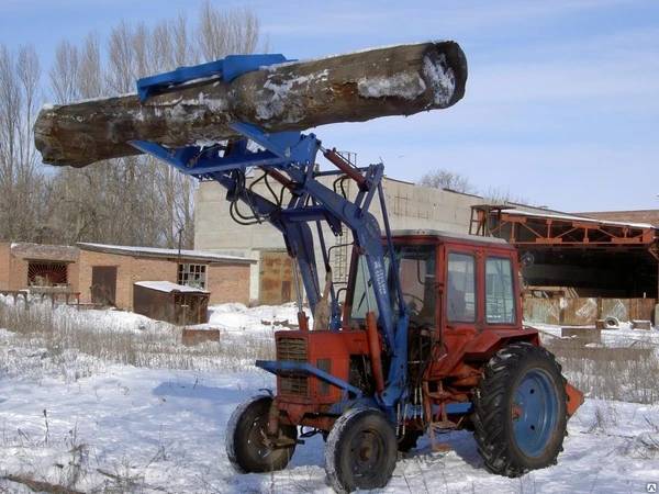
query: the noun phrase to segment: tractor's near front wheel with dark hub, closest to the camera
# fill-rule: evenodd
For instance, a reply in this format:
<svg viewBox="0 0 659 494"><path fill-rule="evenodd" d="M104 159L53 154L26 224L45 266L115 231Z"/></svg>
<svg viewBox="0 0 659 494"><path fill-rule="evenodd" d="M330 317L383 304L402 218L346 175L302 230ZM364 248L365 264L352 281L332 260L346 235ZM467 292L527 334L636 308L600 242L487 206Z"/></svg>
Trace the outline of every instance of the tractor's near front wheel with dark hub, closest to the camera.
<svg viewBox="0 0 659 494"><path fill-rule="evenodd" d="M384 414L353 408L336 423L325 445L325 470L338 493L383 487L395 469L398 441Z"/></svg>

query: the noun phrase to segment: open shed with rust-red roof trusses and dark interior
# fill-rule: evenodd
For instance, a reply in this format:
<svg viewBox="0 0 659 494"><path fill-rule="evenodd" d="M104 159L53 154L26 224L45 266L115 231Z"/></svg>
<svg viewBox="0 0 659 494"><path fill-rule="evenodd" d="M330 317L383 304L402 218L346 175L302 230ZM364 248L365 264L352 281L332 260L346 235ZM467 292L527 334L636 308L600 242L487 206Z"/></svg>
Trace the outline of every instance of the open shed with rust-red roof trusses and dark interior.
<svg viewBox="0 0 659 494"><path fill-rule="evenodd" d="M472 206L470 233L503 238L521 254L533 254L536 262L524 271L529 291L657 299L655 225L482 204Z"/></svg>

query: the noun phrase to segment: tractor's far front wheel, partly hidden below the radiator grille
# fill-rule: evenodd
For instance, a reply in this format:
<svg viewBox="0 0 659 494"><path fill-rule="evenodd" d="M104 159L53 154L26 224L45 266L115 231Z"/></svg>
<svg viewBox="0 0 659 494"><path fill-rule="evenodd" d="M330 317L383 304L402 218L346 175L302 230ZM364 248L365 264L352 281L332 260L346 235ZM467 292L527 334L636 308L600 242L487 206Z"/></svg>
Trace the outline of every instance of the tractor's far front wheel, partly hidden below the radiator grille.
<svg viewBox="0 0 659 494"><path fill-rule="evenodd" d="M272 398L253 396L234 411L226 426L226 454L241 473L281 470L295 451L298 428L281 424L278 438L268 438L268 414ZM286 441L288 446L277 446Z"/></svg>

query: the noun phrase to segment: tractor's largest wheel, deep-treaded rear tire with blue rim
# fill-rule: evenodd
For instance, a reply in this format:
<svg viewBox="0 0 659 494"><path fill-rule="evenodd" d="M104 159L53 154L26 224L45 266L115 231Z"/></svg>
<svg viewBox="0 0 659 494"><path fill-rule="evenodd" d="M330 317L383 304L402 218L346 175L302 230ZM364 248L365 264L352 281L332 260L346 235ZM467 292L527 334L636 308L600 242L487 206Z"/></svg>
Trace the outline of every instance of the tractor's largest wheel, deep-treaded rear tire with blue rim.
<svg viewBox="0 0 659 494"><path fill-rule="evenodd" d="M556 464L566 436L566 379L545 348L515 343L485 366L473 397L474 439L494 473Z"/></svg>

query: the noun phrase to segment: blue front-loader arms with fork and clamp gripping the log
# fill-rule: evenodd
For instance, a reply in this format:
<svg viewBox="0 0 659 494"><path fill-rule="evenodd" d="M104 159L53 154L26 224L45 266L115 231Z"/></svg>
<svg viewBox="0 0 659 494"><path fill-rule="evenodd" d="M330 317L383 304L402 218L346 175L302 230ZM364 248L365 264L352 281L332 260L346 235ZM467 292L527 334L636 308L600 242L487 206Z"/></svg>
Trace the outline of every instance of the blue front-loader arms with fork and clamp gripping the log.
<svg viewBox="0 0 659 494"><path fill-rule="evenodd" d="M245 56L249 58L250 56ZM279 60L279 58L276 58ZM260 61L259 61L260 63ZM242 63L232 60L233 77L235 66ZM245 61L246 70L255 70L257 64ZM212 70L212 72L210 72ZM185 77L181 71L157 76L138 81L143 98L157 94L158 91L171 91L171 87L187 80L222 76L222 64L204 64L188 67ZM152 85L153 82L153 85ZM249 221L268 222L283 236L286 247L293 262L297 262L306 292L312 313L321 300L322 289L319 282L314 238L310 224L317 226L319 242L322 244L323 262L328 271L330 260L321 224L326 223L335 235L340 235L343 225L350 231L354 248L366 262L370 283L373 285L375 303L380 318L381 339L386 351L391 356L391 366L387 379L387 402L391 406L406 390L406 307L402 302L401 283L398 270L393 266L398 297L392 297L388 287L388 274L384 272L384 249L393 249L391 232L387 220L387 209L381 184L384 167L382 164L356 168L335 150L324 149L314 134L301 132L282 132L267 134L249 123L233 123L232 127L244 138L221 141L211 145L186 146L178 149L166 148L157 143L133 141L131 144L139 150L150 154L177 168L182 173L199 180L215 180L227 190L227 200L232 207L237 201L246 204L252 212ZM321 151L336 169L316 170L316 156ZM250 186L247 186L248 170L258 168L264 172L263 180L275 180L288 191L288 202L283 194L266 198ZM317 180L321 176L335 175L355 181L358 193L355 200L344 197ZM260 180L260 179L259 179ZM377 218L369 213L369 207L379 198L383 215L384 235L389 238L382 245L382 229ZM395 259L392 256L392 262ZM295 265L293 265L295 267ZM340 328L340 310L334 290L332 290L332 318L330 329ZM398 300L398 307L391 301ZM394 317L394 311L398 312ZM394 327L396 321L396 327ZM395 391L395 392L393 392Z"/></svg>

